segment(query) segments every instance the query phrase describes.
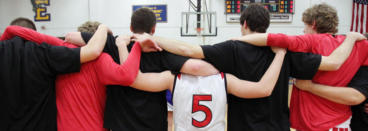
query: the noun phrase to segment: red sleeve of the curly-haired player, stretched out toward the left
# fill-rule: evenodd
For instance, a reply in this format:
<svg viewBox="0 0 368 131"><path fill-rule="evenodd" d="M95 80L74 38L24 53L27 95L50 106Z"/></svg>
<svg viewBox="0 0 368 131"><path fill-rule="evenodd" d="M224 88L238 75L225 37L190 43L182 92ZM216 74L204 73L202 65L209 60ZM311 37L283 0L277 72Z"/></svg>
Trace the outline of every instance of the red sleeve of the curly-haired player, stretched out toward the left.
<svg viewBox="0 0 368 131"><path fill-rule="evenodd" d="M315 44L313 41L314 37L311 34L288 36L286 34L269 33L267 46L283 47L294 52L311 52L311 47Z"/></svg>

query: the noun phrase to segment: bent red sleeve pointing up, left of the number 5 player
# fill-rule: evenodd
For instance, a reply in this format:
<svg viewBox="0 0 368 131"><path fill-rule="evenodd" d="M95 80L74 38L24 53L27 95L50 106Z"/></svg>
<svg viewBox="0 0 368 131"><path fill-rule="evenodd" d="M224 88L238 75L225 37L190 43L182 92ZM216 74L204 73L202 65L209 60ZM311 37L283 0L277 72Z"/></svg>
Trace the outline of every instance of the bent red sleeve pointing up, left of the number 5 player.
<svg viewBox="0 0 368 131"><path fill-rule="evenodd" d="M118 65L112 57L106 53L97 58L96 73L102 84L105 85L131 85L138 74L139 61L141 60L141 45L136 42L127 60Z"/></svg>

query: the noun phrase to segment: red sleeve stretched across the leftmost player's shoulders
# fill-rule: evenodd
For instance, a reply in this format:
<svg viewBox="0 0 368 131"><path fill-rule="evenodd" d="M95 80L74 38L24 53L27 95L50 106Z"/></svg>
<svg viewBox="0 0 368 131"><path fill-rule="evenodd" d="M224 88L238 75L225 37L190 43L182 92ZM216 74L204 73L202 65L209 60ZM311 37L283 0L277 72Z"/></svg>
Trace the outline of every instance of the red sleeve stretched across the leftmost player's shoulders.
<svg viewBox="0 0 368 131"><path fill-rule="evenodd" d="M8 26L5 29L4 34L1 36L0 40L12 39L14 36L19 36L24 40L33 41L36 42L37 44L46 42L53 46L65 46L64 41L60 40L59 38L42 34L32 29L14 25Z"/></svg>

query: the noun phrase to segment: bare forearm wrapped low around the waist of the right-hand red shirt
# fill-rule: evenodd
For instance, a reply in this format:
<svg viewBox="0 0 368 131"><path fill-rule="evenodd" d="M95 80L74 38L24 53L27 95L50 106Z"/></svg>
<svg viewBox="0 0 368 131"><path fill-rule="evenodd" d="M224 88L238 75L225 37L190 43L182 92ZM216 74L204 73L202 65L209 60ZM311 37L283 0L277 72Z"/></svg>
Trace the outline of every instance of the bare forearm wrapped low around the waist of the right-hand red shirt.
<svg viewBox="0 0 368 131"><path fill-rule="evenodd" d="M344 105L358 105L365 100L365 96L350 87L332 87L312 83L311 80L294 79L294 84L300 90L309 91L319 97Z"/></svg>

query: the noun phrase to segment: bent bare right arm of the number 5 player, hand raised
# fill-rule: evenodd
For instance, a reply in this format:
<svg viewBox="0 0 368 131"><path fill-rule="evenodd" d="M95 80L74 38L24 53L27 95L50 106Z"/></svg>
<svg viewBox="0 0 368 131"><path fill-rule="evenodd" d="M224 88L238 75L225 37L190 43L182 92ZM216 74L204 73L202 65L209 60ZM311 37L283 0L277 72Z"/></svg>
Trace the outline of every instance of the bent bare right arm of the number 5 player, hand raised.
<svg viewBox="0 0 368 131"><path fill-rule="evenodd" d="M279 77L285 53L286 49L276 52L270 67L259 82L240 80L231 74L226 74L228 93L241 98L261 98L271 95Z"/></svg>

